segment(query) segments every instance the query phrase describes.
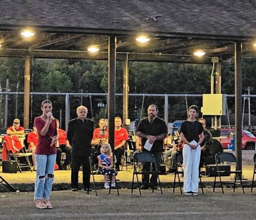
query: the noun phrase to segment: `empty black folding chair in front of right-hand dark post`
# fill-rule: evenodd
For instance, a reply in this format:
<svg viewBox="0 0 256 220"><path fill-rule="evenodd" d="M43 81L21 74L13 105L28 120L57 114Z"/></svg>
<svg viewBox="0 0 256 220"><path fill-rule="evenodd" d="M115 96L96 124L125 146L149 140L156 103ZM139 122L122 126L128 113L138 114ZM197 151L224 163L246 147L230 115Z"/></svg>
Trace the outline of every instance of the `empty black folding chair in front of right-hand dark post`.
<svg viewBox="0 0 256 220"><path fill-rule="evenodd" d="M222 153L218 153L215 155L215 161L216 161L216 173L215 173L215 179L214 179L214 184L213 184L213 191L215 191L215 185L216 185L216 177L217 177L217 174L219 176L219 179L220 179L220 186L221 186L221 189L222 189L222 193L224 194L224 190L223 190L223 185L222 185L222 181L221 181L221 173L223 172L226 172L226 171L220 171L219 169L219 164L221 163L225 163L225 164L231 164L236 167L236 170L234 171L230 171L230 174L235 174L235 179L234 179L234 190L236 189L236 184L238 184L237 180L237 176L239 176L239 180L240 180L240 184L242 186L242 189L243 189L243 193L244 193L244 186L243 186L243 182L242 182L242 171L238 170L237 168L237 158L236 156L233 154L233 153L228 153L228 152L222 152ZM233 183L233 182L228 182L228 181L225 181L225 183Z"/></svg>

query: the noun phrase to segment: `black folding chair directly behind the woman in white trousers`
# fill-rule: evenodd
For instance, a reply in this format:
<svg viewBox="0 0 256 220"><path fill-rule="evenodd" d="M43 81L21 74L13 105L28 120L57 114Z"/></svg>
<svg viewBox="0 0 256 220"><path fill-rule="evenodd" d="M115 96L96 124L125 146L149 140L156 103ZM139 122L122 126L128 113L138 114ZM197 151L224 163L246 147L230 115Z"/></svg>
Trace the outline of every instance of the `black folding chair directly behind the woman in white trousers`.
<svg viewBox="0 0 256 220"><path fill-rule="evenodd" d="M178 185L180 186L180 190L181 190L181 194L182 194L182 185L181 185L181 179L180 179L179 174L184 175L184 171L183 171L183 152L182 151L177 151L174 160L175 160L175 174L174 174L174 181L173 181L173 193L175 192L176 175L177 175L178 176ZM202 194L204 194L200 169L199 169L199 180L200 180L200 186L201 186L201 189L202 189Z"/></svg>

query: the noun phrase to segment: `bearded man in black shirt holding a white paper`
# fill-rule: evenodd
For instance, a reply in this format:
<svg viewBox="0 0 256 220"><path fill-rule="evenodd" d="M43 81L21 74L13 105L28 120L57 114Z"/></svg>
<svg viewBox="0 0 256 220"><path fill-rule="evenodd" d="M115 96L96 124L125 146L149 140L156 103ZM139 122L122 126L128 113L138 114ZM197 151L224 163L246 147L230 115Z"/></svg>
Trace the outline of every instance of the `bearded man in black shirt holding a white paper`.
<svg viewBox="0 0 256 220"><path fill-rule="evenodd" d="M154 155L156 158L157 169L159 171L162 152L164 150L163 144L164 139L167 136L167 126L163 119L157 116L158 107L157 105L150 104L147 108L148 117L141 119L137 128L137 135L141 137L141 142L143 146L143 151L147 151L144 149L144 145L148 140L150 144L153 143L150 153ZM147 151L148 152L148 151ZM143 171L149 171L150 163L143 163ZM155 168L154 168L155 169ZM150 184L152 187L156 187L158 175L152 175L150 178ZM142 176L142 185L141 189L147 189L149 187L149 174L144 174Z"/></svg>

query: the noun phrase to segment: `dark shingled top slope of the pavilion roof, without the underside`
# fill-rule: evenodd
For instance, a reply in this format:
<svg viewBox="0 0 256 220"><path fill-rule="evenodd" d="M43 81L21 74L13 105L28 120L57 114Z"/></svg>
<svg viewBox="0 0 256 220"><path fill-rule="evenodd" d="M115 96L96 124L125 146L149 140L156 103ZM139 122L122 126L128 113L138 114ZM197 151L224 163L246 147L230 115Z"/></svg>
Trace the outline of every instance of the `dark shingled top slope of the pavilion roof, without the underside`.
<svg viewBox="0 0 256 220"><path fill-rule="evenodd" d="M255 1L233 0L1 0L0 25L244 38L256 37L255 11Z"/></svg>

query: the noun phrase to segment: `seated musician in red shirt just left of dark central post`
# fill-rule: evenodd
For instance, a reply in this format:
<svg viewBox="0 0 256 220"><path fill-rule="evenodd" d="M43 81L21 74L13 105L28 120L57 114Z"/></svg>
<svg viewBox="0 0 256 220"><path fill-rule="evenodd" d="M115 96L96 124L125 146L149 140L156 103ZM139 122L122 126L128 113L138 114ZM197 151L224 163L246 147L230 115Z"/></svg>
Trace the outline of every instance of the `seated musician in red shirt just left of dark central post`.
<svg viewBox="0 0 256 220"><path fill-rule="evenodd" d="M99 119L98 128L93 131L92 137L92 151L99 151L100 146L107 142L108 140L108 131L106 126L106 120L104 118Z"/></svg>

